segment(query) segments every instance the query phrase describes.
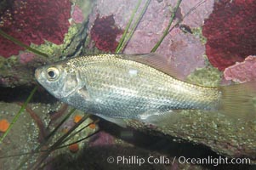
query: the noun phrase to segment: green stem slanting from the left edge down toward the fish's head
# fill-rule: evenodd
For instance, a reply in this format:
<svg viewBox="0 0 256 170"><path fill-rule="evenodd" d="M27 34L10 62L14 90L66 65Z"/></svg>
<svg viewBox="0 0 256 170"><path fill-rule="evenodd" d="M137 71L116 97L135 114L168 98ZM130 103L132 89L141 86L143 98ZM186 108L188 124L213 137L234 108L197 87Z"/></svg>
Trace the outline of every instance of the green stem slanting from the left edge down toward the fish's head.
<svg viewBox="0 0 256 170"><path fill-rule="evenodd" d="M37 49L34 49L34 48L31 48L31 47L27 46L23 42L20 42L20 40L14 38L14 37L9 36L7 33L5 33L1 29L0 29L0 35L5 37L6 39L9 39L10 41L16 43L20 47L26 48L27 50L31 51L33 54L38 54L38 55L42 55L43 57L48 57L48 54L44 54L44 53L38 51Z"/></svg>

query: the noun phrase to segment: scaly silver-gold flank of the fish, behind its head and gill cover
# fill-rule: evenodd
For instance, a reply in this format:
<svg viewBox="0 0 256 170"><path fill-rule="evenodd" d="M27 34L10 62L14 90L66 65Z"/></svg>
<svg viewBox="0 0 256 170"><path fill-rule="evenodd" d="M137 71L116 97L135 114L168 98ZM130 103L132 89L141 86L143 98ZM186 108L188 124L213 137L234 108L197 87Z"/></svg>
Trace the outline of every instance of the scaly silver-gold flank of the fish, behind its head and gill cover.
<svg viewBox="0 0 256 170"><path fill-rule="evenodd" d="M82 77L88 82L88 94L97 105L94 110L109 112L109 116L137 117L146 111L158 111L159 108L208 109L216 100L210 96L207 101L205 95L209 93L198 93L200 90L209 91L208 88L175 80L147 65L115 58L114 55L78 58L70 62L81 67L77 69L81 70ZM131 76L128 73L130 70L138 71L137 75ZM119 87L127 89L127 92ZM187 95L195 91L196 95ZM211 91L217 94L215 88L211 88Z"/></svg>

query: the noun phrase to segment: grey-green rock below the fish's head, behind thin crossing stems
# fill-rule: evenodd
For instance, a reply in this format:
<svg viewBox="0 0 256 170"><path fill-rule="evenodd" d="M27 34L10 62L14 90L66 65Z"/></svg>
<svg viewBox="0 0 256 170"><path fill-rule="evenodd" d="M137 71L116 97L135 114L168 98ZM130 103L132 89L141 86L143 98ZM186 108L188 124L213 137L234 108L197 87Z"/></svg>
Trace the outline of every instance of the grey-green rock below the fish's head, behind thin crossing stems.
<svg viewBox="0 0 256 170"><path fill-rule="evenodd" d="M20 111L21 104L0 102L0 120L6 119L9 122ZM81 111L74 111L71 116L66 117L71 111L66 105L56 102L54 104L34 103L26 106L9 133L0 144L0 169L32 169L31 167L41 161L46 150L51 150L43 164L54 159L55 156L66 154L77 156L77 153L71 153L67 144L76 142L87 135L94 133L98 127L90 128L88 124L92 122L90 118L86 119L74 131L72 138L62 141L58 146L65 147L54 149L52 147L60 138L67 133L71 127L76 125L74 117L84 115ZM60 124L60 122L65 122ZM1 125L0 125L1 126ZM58 127L60 126L60 127ZM58 128L57 128L58 127ZM84 128L86 127L86 128ZM3 133L0 132L0 139ZM78 143L80 148L87 147L88 139L83 139ZM56 147L56 146L55 146ZM38 168L36 168L38 169ZM56 168L54 168L56 169Z"/></svg>

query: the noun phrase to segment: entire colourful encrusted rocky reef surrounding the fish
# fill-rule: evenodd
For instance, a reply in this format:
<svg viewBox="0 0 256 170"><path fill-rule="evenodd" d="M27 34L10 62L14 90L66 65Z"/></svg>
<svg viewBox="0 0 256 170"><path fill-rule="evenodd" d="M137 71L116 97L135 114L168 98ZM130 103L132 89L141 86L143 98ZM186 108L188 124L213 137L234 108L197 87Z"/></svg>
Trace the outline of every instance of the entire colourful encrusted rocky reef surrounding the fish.
<svg viewBox="0 0 256 170"><path fill-rule="evenodd" d="M141 1L139 11L145 2L145 0ZM122 53L150 53L168 26L177 2L178 0L151 0L145 14L139 20L139 25L136 26L133 37ZM33 71L37 66L83 54L115 52L137 3L135 0L1 2L0 28L31 48L48 54L49 57L32 54L15 45L14 42L0 37L2 56L0 57L2 90L0 120L6 119L11 122L14 114L19 111L20 102L25 101L31 86L36 84ZM254 37L256 26L253 9L255 2L251 0L246 3L242 0L192 0L190 3L182 1L171 30L168 31L167 37L157 48L156 53L165 56L167 62L180 72L179 78L186 82L213 87L221 83L227 84L225 82L227 80L228 83L255 81L253 51L256 44ZM29 21L28 24L24 23L24 19ZM31 26L33 23L34 25ZM48 29L44 29L43 23ZM43 99L40 98L41 96ZM26 107L25 114L20 117L8 138L0 146L1 156L15 155L19 151L27 153L34 150L35 145L44 144L50 130L61 122L60 118L65 116L66 111L71 111L70 108L49 97L42 88L39 88L38 94L34 97L32 103ZM63 113L65 114L61 115ZM54 140L65 134L69 127L76 125L81 115L83 113L76 111L67 119L50 144L54 144ZM86 123L92 121L88 120ZM177 155L203 157L208 154L215 157L226 156L229 159L247 157L251 159L251 163L256 162L256 120L253 119L244 122L219 112L179 111L168 123L158 127L134 120L126 121L133 131L130 137L138 139L139 142L131 142L131 138L127 137L130 133L126 130L121 129L118 131L119 134L113 133L120 127L111 127L113 126L111 124L104 126L103 123L100 129L104 129L105 132L101 131L80 144L66 146L60 151L56 150L46 161L53 162L49 163L48 168L117 167L105 161L105 158L110 156L109 153L112 156L118 154L130 156L134 153L138 153L138 156L168 156L170 160L174 160ZM104 121L100 121L102 122ZM81 135L87 136L98 129L98 126L95 128L94 126L87 127ZM122 138L123 132L125 138ZM79 135L75 135L71 141L77 139ZM152 143L147 143L151 140L152 143L159 142L157 149L165 144L164 146L170 150L168 153L154 150L155 145L153 147ZM20 143L25 144L23 148ZM48 149L47 144L44 147ZM189 152L193 154L190 155ZM43 153L40 153L37 160L31 159L29 164L40 161L42 155ZM19 159L8 161L0 160L0 164L6 168L12 164L16 166L22 163L24 157L20 156ZM97 165L96 158L100 159L102 164ZM83 162L84 159L86 161ZM123 166L123 169L125 168L128 167ZM172 166L145 165L144 168L205 169L208 167L181 165L175 161ZM211 168L213 167L209 167Z"/></svg>

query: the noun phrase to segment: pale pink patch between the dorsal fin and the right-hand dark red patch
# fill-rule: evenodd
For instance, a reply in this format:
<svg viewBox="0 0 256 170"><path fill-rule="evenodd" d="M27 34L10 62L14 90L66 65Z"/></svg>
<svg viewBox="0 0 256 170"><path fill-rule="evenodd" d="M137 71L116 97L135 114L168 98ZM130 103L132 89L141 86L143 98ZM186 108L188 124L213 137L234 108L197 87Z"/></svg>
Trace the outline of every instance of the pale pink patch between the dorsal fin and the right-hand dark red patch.
<svg viewBox="0 0 256 170"><path fill-rule="evenodd" d="M184 80L196 68L205 65L205 48L200 40L190 33L182 33L178 28L168 35L168 40L162 43L161 49L158 54L167 56L168 62L180 73L179 79Z"/></svg>

